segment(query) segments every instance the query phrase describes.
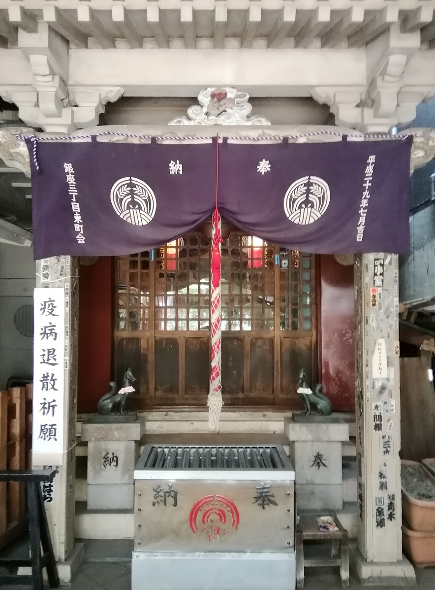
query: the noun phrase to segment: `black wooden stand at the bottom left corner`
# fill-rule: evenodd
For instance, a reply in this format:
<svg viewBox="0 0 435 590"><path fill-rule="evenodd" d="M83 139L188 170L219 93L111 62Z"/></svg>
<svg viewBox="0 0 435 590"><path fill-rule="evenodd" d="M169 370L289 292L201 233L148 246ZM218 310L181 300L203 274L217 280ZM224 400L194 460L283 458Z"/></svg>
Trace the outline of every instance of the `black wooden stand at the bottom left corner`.
<svg viewBox="0 0 435 590"><path fill-rule="evenodd" d="M58 588L60 585L41 493L42 481L53 481L55 474L55 471L48 470L0 470L0 481L22 481L26 484L30 540L29 559L0 557L0 566L6 569L29 565L32 567L31 575L0 574L0 586L28 584L33 590L43 590L42 569L44 568L47 569L50 588Z"/></svg>

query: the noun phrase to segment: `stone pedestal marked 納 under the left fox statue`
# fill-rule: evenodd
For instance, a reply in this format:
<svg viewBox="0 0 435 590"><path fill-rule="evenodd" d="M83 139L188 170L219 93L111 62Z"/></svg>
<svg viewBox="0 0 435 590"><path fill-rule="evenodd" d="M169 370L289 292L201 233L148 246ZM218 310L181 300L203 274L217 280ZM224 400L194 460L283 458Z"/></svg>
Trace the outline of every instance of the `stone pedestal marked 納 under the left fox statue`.
<svg viewBox="0 0 435 590"><path fill-rule="evenodd" d="M134 417L90 419L81 440L88 441L88 509L133 510L133 471L144 433Z"/></svg>

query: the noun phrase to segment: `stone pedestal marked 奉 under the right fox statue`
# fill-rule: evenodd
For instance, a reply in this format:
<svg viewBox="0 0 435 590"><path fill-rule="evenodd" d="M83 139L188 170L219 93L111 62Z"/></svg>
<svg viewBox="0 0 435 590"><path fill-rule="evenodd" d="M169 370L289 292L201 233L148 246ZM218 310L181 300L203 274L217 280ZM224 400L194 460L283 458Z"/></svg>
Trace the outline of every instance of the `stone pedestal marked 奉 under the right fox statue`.
<svg viewBox="0 0 435 590"><path fill-rule="evenodd" d="M341 444L349 425L339 418L296 415L286 419L295 466L297 506L302 510L343 507Z"/></svg>

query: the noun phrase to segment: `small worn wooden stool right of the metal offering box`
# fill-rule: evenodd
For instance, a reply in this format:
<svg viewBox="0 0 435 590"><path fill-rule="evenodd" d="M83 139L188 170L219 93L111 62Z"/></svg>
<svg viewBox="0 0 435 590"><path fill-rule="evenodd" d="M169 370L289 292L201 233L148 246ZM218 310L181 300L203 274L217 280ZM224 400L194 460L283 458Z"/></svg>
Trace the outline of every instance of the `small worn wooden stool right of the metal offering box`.
<svg viewBox="0 0 435 590"><path fill-rule="evenodd" d="M349 586L349 545L348 533L340 523L335 512L325 512L322 516L332 516L338 530L335 532L319 530L317 518L320 514L301 516L296 527L296 584L304 588L304 568L329 568L340 566L342 587ZM304 559L304 541L331 541L331 559Z"/></svg>

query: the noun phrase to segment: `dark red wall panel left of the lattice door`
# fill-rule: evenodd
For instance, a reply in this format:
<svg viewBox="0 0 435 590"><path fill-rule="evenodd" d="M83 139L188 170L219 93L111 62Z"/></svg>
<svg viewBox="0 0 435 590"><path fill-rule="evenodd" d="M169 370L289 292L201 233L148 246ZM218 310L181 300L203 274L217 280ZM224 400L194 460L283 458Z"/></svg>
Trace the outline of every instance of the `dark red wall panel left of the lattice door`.
<svg viewBox="0 0 435 590"><path fill-rule="evenodd" d="M77 411L96 412L108 392L112 349L112 259L80 266Z"/></svg>

